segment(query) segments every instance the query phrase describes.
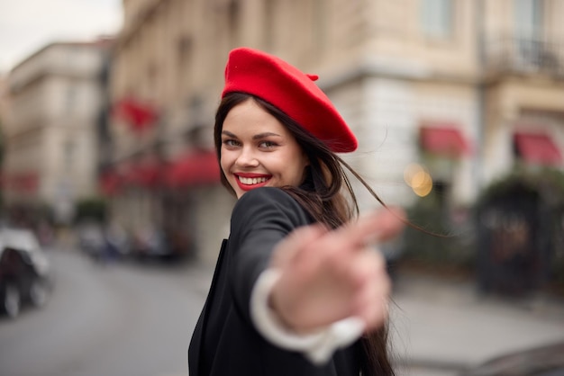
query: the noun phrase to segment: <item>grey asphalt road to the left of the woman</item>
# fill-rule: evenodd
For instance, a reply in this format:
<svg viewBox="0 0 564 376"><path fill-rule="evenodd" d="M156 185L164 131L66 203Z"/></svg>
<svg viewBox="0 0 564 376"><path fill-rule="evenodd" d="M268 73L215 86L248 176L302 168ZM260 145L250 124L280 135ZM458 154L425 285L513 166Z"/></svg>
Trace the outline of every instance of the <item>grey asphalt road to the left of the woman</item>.
<svg viewBox="0 0 564 376"><path fill-rule="evenodd" d="M187 374L209 271L190 264L104 266L78 251L49 255L49 303L15 320L0 318L0 375Z"/></svg>

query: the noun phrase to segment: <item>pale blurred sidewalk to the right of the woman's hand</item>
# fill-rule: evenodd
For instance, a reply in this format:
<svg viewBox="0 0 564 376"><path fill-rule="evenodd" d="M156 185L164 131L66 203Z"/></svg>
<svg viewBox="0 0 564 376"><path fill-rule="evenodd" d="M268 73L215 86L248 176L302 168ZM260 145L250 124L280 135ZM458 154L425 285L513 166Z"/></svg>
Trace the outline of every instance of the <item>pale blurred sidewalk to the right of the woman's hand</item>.
<svg viewBox="0 0 564 376"><path fill-rule="evenodd" d="M480 296L472 280L400 273L391 309L399 376L458 375L498 355L564 342L564 301Z"/></svg>

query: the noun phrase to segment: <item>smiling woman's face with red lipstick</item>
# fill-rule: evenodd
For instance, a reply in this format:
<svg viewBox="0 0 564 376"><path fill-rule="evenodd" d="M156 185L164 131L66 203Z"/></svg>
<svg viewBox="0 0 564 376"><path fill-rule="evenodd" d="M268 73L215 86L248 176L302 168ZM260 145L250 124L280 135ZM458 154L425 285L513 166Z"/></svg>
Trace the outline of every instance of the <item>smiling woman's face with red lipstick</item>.
<svg viewBox="0 0 564 376"><path fill-rule="evenodd" d="M262 186L297 186L308 160L296 139L252 99L223 121L221 166L237 198Z"/></svg>

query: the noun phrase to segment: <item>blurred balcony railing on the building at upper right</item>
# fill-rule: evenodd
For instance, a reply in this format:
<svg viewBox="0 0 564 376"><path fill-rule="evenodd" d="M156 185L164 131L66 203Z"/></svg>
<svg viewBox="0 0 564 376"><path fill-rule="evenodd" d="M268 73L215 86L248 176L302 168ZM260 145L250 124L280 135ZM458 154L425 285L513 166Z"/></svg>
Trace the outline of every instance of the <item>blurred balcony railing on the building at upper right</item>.
<svg viewBox="0 0 564 376"><path fill-rule="evenodd" d="M564 78L564 43L515 37L489 40L485 65L490 74L542 74Z"/></svg>

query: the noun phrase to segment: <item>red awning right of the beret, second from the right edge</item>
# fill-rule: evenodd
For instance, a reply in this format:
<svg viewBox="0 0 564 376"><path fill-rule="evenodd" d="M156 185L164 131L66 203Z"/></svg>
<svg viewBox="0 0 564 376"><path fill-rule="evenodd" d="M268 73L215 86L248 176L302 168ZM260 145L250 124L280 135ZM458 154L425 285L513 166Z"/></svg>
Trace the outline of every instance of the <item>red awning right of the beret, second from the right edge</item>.
<svg viewBox="0 0 564 376"><path fill-rule="evenodd" d="M432 154L462 157L471 151L462 132L454 126L423 126L419 137L422 148Z"/></svg>

